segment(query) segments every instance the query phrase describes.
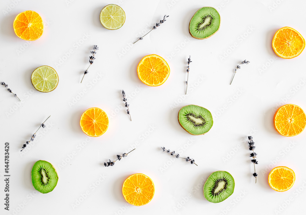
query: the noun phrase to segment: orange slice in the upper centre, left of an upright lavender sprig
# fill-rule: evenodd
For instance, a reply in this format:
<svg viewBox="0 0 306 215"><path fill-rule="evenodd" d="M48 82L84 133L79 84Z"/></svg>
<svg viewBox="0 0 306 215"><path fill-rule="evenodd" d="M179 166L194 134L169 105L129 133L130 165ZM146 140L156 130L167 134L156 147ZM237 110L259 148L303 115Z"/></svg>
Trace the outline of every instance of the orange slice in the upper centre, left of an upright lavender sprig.
<svg viewBox="0 0 306 215"><path fill-rule="evenodd" d="M170 74L170 67L161 56L147 55L139 62L137 74L144 84L155 87L165 83Z"/></svg>

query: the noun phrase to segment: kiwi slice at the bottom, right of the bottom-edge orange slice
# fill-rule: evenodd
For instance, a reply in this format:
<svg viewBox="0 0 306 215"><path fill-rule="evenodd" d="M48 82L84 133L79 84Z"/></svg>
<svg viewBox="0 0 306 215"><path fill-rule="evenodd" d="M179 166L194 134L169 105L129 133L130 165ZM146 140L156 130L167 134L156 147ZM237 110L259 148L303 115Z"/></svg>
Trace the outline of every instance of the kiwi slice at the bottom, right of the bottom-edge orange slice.
<svg viewBox="0 0 306 215"><path fill-rule="evenodd" d="M222 202L233 194L234 187L234 178L230 173L226 171L213 172L204 184L204 197L209 202Z"/></svg>

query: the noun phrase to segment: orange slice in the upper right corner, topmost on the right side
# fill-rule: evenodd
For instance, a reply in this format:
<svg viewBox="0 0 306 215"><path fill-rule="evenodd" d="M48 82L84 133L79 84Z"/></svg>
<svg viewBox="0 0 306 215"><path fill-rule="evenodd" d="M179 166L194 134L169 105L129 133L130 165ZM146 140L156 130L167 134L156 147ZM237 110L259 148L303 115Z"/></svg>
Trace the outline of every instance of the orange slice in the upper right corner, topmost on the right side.
<svg viewBox="0 0 306 215"><path fill-rule="evenodd" d="M275 54L281 58L295 58L304 50L305 40L297 30L283 27L275 33L272 47Z"/></svg>

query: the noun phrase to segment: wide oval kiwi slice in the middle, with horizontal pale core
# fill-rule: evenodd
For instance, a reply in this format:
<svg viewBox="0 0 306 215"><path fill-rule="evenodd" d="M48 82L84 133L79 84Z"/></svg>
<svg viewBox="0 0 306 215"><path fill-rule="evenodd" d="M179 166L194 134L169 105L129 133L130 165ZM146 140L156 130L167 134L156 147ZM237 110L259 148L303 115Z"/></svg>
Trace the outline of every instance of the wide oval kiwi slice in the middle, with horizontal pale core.
<svg viewBox="0 0 306 215"><path fill-rule="evenodd" d="M178 112L178 122L189 134L201 135L211 129L213 119L209 110L190 104Z"/></svg>

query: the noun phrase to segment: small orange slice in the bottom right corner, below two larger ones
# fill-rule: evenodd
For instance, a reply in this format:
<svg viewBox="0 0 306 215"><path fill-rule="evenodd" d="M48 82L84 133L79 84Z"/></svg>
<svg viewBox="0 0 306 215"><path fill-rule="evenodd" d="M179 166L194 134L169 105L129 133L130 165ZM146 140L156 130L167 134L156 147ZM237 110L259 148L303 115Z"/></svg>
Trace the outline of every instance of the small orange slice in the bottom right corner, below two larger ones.
<svg viewBox="0 0 306 215"><path fill-rule="evenodd" d="M284 192L289 190L295 181L295 173L288 167L275 167L269 173L268 182L273 190Z"/></svg>

